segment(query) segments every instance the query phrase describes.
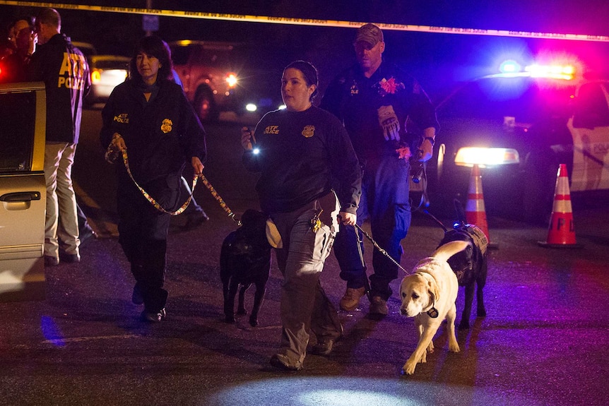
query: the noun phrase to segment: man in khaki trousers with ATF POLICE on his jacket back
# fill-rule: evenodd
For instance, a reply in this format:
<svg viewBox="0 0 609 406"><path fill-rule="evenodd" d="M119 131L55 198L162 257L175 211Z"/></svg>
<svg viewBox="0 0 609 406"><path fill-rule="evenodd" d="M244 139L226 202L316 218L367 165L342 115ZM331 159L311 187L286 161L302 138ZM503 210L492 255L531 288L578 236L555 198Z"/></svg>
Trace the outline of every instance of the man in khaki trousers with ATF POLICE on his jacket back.
<svg viewBox="0 0 609 406"><path fill-rule="evenodd" d="M61 17L56 10L42 9L36 17L35 30L38 47L28 71L30 80L45 82L47 91L45 264L57 265L60 257L61 261L73 263L81 260L81 241L71 170L90 72L83 53L59 33Z"/></svg>

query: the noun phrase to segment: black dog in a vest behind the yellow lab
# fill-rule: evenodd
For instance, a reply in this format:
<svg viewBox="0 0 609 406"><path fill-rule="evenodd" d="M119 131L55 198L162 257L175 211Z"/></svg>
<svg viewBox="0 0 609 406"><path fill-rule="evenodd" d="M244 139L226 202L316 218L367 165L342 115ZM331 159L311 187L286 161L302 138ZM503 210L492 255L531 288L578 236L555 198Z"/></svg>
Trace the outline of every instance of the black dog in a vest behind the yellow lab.
<svg viewBox="0 0 609 406"><path fill-rule="evenodd" d="M467 249L460 251L448 259L449 265L459 280L459 286L465 287L465 307L461 315L459 330L469 328L469 317L473 302L473 291L476 290L476 315L486 316L484 308L483 289L487 275L487 247L488 239L480 227L459 222L454 229L447 230L439 246L449 241L468 241L471 243Z"/></svg>

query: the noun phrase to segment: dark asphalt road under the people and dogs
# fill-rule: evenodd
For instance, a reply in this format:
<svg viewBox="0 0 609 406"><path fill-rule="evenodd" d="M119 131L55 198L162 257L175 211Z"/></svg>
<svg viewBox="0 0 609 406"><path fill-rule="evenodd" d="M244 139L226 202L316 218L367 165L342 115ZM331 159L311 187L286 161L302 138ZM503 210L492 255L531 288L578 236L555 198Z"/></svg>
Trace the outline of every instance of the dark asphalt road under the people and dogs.
<svg viewBox="0 0 609 406"><path fill-rule="evenodd" d="M97 145L99 111L85 112L74 179L83 209L103 238L78 264L47 268L44 301L0 303L0 402L4 405L608 405L609 210L574 201L582 249L544 249L543 227L489 217L487 316L458 333L461 352L436 351L413 376L400 369L417 337L413 320L389 300L382 321L368 301L339 313L345 336L305 369L268 365L280 335L279 285L271 269L260 326L223 322L218 258L236 225L203 185L195 196L211 220L182 231L172 220L168 318L138 321L133 280L115 238L114 178ZM256 207L252 174L240 165L239 124L208 126L206 177L237 217ZM441 219L449 222L451 219ZM421 213L403 241L407 270L428 256L442 229ZM114 236L114 237L113 237ZM371 263L372 246L365 257ZM392 287L398 291L399 280ZM333 256L322 284L338 304L344 283ZM252 288L253 289L253 288ZM247 293L247 307L253 292ZM463 291L457 299L458 321Z"/></svg>

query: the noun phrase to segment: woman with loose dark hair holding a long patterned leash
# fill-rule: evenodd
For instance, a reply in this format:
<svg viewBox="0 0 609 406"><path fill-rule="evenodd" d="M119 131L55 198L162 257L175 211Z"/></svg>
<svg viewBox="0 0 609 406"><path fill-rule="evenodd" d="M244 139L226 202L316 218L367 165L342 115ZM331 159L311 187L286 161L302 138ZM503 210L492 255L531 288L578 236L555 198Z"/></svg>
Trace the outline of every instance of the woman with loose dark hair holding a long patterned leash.
<svg viewBox="0 0 609 406"><path fill-rule="evenodd" d="M184 166L189 163L194 174L203 171L205 131L171 80L172 62L159 37L139 40L129 71L102 109L100 141L128 154L125 165L116 165L119 243L136 280L131 299L144 304L143 321L157 322L166 316L167 213L183 203Z"/></svg>

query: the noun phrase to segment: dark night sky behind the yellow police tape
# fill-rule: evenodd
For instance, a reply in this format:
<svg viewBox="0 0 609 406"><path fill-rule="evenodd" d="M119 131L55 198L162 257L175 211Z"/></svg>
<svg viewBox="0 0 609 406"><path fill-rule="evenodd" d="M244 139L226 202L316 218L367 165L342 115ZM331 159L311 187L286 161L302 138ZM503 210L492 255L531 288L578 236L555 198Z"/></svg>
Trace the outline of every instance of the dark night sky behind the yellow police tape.
<svg viewBox="0 0 609 406"><path fill-rule="evenodd" d="M146 0L61 1L61 4L145 8ZM152 0L153 8L167 10L609 35L609 24L606 23L609 1L591 0L582 4L574 0ZM134 41L143 35L141 15L62 8L58 11L63 19L62 32L73 40L93 42L102 53L129 54ZM6 27L23 13L35 14L36 8L0 6L1 26ZM157 33L165 40L191 38L246 43L250 64L278 72L293 59L307 59L319 68L323 88L339 69L353 61L351 41L354 32L350 28L161 17ZM402 64L420 79L430 93L442 92L455 80L489 73L485 69L496 64L497 53L511 49L531 54L548 49L575 53L596 68L609 60L609 43L598 42L389 30L385 30L385 42L386 59Z"/></svg>

